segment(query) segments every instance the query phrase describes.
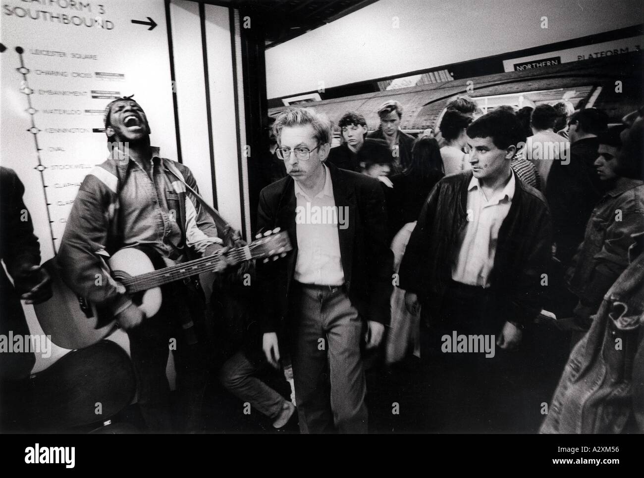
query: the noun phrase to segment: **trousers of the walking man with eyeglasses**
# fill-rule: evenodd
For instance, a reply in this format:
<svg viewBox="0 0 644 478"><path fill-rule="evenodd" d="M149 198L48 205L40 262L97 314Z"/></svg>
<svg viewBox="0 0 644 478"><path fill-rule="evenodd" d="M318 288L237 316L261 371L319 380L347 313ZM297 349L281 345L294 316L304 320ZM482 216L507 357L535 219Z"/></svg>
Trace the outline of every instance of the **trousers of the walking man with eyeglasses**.
<svg viewBox="0 0 644 478"><path fill-rule="evenodd" d="M294 283L292 363L303 433L367 432L363 322L343 287Z"/></svg>

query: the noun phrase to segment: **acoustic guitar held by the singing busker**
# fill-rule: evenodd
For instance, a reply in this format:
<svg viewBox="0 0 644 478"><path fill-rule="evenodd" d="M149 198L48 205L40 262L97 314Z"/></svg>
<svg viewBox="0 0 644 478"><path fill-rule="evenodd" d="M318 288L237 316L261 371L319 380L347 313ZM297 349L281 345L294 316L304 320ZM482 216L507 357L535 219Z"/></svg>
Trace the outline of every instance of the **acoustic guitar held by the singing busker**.
<svg viewBox="0 0 644 478"><path fill-rule="evenodd" d="M232 248L225 254L225 259L231 265L250 259L269 260L272 257L275 260L290 250L292 246L287 232L267 232L265 237L247 246ZM222 263L222 256L216 254L155 268L145 252L133 247L118 250L108 260L112 277L125 286L146 317L153 317L161 307L160 286L202 272L220 271ZM81 349L99 342L116 328L116 319L108 311L68 288L61 279L55 258L45 262L43 267L52 276L53 295L33 308L44 333L51 336L54 344L65 349Z"/></svg>

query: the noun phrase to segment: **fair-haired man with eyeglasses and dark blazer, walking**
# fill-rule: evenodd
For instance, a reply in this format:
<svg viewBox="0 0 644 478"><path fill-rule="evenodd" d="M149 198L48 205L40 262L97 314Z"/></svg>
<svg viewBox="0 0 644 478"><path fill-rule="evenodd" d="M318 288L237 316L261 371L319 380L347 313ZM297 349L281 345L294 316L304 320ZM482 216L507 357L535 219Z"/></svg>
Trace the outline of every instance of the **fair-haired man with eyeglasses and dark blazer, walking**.
<svg viewBox="0 0 644 478"><path fill-rule="evenodd" d="M365 433L361 339L377 347L390 320L384 194L377 179L325 163L331 125L312 109L287 109L274 131L289 176L261 191L257 225L287 230L294 250L258 267L263 350L279 367L290 345L302 432Z"/></svg>

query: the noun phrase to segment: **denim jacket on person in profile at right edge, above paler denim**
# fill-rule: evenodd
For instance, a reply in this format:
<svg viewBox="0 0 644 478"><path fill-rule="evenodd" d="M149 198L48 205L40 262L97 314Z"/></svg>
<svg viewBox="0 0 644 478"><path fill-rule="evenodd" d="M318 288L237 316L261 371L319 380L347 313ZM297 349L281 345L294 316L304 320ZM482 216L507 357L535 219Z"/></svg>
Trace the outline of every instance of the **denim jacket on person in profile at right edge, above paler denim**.
<svg viewBox="0 0 644 478"><path fill-rule="evenodd" d="M629 262L632 235L644 231L644 181L619 178L597 203L567 273L580 299L576 314L590 317Z"/></svg>

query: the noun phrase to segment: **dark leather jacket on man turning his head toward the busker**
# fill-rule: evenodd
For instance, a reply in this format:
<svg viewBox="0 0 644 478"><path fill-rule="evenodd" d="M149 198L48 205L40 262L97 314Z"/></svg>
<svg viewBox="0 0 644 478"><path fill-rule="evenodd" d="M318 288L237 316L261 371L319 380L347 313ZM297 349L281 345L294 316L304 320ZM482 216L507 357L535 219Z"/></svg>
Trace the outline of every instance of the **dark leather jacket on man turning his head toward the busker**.
<svg viewBox="0 0 644 478"><path fill-rule="evenodd" d="M515 174L513 172L513 174ZM472 172L443 178L426 199L399 272L399 287L436 311L467 223ZM506 320L525 325L545 304L552 225L544 196L516 178L515 196L498 232L490 293ZM544 284L544 285L542 285ZM430 312L431 313L431 312Z"/></svg>

